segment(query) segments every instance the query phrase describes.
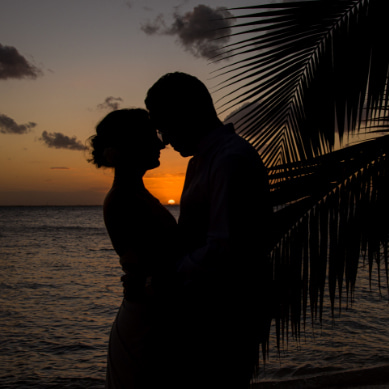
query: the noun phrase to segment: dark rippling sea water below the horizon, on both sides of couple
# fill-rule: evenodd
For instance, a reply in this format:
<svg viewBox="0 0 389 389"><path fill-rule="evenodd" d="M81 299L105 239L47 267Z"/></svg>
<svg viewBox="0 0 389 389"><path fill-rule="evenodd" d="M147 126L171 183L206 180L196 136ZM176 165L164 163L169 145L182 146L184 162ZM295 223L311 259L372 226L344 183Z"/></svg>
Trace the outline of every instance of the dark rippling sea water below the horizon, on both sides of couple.
<svg viewBox="0 0 389 389"><path fill-rule="evenodd" d="M121 275L101 207L0 207L0 388L102 389ZM352 307L334 320L326 307L280 352L273 328L255 386L389 382L388 289L377 282L361 263Z"/></svg>

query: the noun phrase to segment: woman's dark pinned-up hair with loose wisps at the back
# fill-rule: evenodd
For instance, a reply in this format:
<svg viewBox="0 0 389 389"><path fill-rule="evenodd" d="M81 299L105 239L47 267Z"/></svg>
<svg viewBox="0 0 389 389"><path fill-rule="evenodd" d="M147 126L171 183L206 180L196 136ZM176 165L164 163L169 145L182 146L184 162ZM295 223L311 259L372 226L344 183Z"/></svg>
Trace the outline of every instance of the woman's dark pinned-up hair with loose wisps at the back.
<svg viewBox="0 0 389 389"><path fill-rule="evenodd" d="M149 114L141 108L119 109L110 112L96 126L96 135L90 138L91 158L97 167L115 167L115 153L130 153L150 127Z"/></svg>

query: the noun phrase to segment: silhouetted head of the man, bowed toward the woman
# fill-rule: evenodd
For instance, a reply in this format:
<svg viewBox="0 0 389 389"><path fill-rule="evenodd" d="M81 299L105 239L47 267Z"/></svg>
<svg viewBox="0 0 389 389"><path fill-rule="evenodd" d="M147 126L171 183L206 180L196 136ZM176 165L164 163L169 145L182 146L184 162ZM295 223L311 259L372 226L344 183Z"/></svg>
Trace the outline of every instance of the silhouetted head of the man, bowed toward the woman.
<svg viewBox="0 0 389 389"><path fill-rule="evenodd" d="M196 153L199 141L221 122L206 86L186 73L168 73L147 92L151 120L182 156Z"/></svg>

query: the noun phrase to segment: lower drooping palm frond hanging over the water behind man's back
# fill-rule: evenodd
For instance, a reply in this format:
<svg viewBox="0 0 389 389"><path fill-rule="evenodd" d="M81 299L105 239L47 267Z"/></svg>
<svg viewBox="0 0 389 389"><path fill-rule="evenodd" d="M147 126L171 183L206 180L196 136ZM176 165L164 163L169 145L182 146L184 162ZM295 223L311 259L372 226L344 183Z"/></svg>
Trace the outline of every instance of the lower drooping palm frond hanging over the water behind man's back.
<svg viewBox="0 0 389 389"><path fill-rule="evenodd" d="M308 306L312 320L322 318L327 276L334 314L337 297L341 310L344 281L352 303L361 256L370 272L376 264L379 274L384 263L388 274L389 136L269 173L280 208L271 254L274 316L277 328L290 321L299 337Z"/></svg>

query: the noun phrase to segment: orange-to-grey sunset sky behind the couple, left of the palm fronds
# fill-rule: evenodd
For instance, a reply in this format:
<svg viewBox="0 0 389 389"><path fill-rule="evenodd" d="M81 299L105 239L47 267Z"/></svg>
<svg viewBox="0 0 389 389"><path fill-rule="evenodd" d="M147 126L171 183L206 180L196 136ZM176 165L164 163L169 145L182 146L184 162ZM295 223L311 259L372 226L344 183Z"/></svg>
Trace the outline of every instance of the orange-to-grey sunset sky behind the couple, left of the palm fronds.
<svg viewBox="0 0 389 389"><path fill-rule="evenodd" d="M193 74L213 93L220 64L211 53L228 42L212 39L208 27L228 28L233 11L225 9L236 6L1 0L0 205L102 204L113 172L87 162L96 124L113 109L144 107L148 88L167 72ZM167 147L146 174L162 203L179 203L187 162Z"/></svg>

